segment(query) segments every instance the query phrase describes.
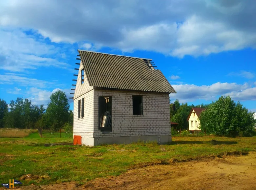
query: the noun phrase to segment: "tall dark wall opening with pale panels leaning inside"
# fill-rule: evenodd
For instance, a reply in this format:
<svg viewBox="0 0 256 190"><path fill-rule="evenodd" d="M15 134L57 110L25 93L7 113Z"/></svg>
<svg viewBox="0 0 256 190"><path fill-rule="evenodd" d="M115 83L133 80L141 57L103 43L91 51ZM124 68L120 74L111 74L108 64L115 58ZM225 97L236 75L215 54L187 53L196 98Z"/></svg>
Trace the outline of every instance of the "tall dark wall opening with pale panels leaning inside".
<svg viewBox="0 0 256 190"><path fill-rule="evenodd" d="M99 96L99 129L112 130L112 97Z"/></svg>

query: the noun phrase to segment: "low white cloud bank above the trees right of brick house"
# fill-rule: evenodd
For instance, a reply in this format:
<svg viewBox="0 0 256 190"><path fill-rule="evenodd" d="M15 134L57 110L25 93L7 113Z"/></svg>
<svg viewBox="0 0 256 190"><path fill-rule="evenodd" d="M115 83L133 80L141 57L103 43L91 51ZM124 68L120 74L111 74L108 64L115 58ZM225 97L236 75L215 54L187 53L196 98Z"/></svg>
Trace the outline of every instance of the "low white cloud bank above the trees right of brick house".
<svg viewBox="0 0 256 190"><path fill-rule="evenodd" d="M194 100L215 100L221 95L230 95L234 100L256 100L256 87L250 87L247 83L215 83L212 85L172 85L177 94L170 94L171 99L179 99L181 102Z"/></svg>

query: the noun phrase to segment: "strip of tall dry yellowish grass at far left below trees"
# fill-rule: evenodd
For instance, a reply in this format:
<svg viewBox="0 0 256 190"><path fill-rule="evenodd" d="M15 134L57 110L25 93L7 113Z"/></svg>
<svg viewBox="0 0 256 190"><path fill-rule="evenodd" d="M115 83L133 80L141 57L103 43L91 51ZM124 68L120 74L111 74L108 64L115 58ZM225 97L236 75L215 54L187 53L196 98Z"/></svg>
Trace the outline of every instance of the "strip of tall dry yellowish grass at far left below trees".
<svg viewBox="0 0 256 190"><path fill-rule="evenodd" d="M37 129L2 128L0 129L0 138L23 138L35 132Z"/></svg>

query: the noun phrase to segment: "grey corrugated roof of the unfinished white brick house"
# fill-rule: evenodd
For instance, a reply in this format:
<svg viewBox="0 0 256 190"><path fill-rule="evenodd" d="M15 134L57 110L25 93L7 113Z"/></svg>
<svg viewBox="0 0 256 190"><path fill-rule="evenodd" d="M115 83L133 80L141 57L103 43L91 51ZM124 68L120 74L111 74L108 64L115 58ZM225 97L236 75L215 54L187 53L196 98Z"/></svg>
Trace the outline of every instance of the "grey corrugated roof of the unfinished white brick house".
<svg viewBox="0 0 256 190"><path fill-rule="evenodd" d="M85 50L78 50L90 86L176 93L162 72L150 69L144 60Z"/></svg>

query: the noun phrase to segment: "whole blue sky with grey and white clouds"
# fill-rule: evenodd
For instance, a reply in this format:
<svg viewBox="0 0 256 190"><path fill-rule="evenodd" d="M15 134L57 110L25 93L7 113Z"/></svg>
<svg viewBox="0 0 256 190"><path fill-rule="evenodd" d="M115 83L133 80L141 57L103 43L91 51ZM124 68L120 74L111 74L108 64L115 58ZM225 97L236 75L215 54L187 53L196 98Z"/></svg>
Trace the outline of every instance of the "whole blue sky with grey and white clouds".
<svg viewBox="0 0 256 190"><path fill-rule="evenodd" d="M86 49L153 59L177 91L172 102L230 95L256 111L255 9L236 0L3 1L0 98L72 97L77 49Z"/></svg>

